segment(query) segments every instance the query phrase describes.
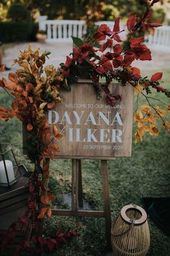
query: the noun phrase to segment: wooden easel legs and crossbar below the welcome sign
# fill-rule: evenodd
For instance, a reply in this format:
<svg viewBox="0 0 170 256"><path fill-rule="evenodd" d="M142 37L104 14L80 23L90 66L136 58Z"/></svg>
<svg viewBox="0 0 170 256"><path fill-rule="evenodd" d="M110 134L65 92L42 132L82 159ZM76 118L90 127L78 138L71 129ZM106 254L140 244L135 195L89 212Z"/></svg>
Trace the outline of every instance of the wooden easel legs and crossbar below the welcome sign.
<svg viewBox="0 0 170 256"><path fill-rule="evenodd" d="M46 159L45 165L50 164ZM71 209L52 209L54 216L81 216L81 217L104 217L106 222L107 243L111 247L111 216L109 204L109 179L107 171L107 160L101 160L102 187L104 195L104 210L79 210L83 208L83 189L81 176L81 159L72 159L72 192Z"/></svg>

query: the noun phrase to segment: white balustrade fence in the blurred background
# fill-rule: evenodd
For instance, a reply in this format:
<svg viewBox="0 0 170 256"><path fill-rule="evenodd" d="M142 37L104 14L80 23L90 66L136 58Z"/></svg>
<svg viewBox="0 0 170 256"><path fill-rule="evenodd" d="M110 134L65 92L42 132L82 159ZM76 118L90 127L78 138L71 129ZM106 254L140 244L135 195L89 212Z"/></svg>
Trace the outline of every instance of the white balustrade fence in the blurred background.
<svg viewBox="0 0 170 256"><path fill-rule="evenodd" d="M71 35L82 38L86 34L86 22L84 20L47 20L47 16L38 17L39 29L47 31L47 43L70 42ZM114 22L97 22L96 25L107 24L111 29ZM120 35L125 40L128 33L126 23L120 23ZM146 45L152 50L170 51L170 26L157 27L154 35L146 35Z"/></svg>

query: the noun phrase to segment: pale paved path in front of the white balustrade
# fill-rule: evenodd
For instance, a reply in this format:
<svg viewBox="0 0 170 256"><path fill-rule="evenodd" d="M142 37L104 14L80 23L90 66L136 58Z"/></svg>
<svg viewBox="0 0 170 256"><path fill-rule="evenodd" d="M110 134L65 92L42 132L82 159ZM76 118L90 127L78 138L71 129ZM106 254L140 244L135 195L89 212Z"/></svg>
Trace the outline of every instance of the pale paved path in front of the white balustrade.
<svg viewBox="0 0 170 256"><path fill-rule="evenodd" d="M31 45L34 49L40 47L41 51L50 51L50 58L47 59L46 64L53 64L58 67L58 64L66 60L66 56L72 51L72 43L18 43L17 45L7 48L4 53L3 62L6 63L7 67L11 67L13 60L19 56L19 51L23 51L28 45ZM142 70L158 70L170 68L170 55L161 51L152 52L152 61L135 61L133 62L134 67L139 67ZM12 67L11 72L17 69L17 65ZM3 72L1 75L7 77L9 72Z"/></svg>

